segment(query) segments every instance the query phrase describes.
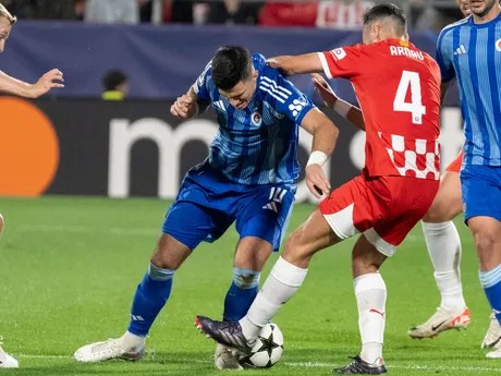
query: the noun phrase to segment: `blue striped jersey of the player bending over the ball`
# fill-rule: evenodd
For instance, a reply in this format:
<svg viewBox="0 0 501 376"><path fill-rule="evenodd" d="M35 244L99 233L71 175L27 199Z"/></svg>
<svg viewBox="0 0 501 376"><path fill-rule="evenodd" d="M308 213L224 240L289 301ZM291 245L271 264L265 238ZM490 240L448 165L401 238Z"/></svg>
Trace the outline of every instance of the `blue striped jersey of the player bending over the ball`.
<svg viewBox="0 0 501 376"><path fill-rule="evenodd" d="M253 63L257 85L245 109L235 109L219 94L210 63L193 86L218 114L209 163L235 184L292 184L300 175L298 125L314 105L262 56L253 54Z"/></svg>

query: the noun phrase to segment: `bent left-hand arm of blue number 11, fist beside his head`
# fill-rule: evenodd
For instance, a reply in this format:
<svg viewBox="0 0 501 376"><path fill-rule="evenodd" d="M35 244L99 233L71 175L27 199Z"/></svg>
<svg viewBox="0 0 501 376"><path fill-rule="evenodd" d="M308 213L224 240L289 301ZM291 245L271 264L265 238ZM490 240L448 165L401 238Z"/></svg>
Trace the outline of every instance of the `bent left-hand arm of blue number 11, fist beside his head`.
<svg viewBox="0 0 501 376"><path fill-rule="evenodd" d="M205 112L210 105L210 94L207 89L207 76L210 72L210 61L197 81L183 96L179 97L171 106L171 113L181 119L191 119L198 113Z"/></svg>

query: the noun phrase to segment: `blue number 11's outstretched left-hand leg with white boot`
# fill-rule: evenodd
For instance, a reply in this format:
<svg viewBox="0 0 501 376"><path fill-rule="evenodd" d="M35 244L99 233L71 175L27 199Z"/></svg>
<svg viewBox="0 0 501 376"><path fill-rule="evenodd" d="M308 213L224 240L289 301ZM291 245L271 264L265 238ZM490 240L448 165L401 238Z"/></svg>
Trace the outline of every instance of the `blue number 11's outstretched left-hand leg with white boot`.
<svg viewBox="0 0 501 376"><path fill-rule="evenodd" d="M75 352L77 361L100 362L113 357L135 361L142 357L146 335L170 296L175 271L210 233L215 227L212 217L193 203L175 202L171 206L148 271L134 294L127 330L121 338L78 349Z"/></svg>

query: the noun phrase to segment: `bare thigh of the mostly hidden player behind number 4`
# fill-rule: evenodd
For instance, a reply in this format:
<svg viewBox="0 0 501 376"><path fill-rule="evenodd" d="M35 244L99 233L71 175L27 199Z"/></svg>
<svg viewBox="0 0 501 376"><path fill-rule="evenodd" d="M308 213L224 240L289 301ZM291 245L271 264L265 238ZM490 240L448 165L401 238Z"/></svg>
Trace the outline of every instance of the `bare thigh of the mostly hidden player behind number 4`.
<svg viewBox="0 0 501 376"><path fill-rule="evenodd" d="M454 219L463 211L461 180L459 172L447 171L440 182L440 189L424 222L441 223Z"/></svg>

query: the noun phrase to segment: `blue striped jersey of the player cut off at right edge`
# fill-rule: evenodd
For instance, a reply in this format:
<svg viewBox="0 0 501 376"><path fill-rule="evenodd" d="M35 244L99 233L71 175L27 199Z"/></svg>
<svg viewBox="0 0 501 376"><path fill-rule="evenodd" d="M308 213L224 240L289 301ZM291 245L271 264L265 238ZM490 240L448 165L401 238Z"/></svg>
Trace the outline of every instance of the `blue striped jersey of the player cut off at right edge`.
<svg viewBox="0 0 501 376"><path fill-rule="evenodd" d="M501 14L445 27L437 45L442 83L456 77L466 143L465 165L501 166Z"/></svg>

